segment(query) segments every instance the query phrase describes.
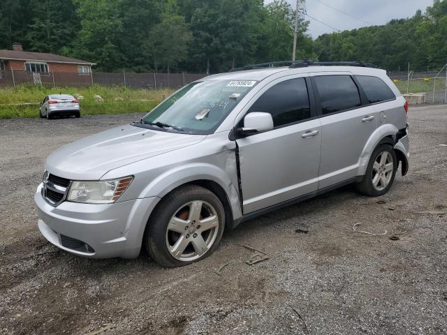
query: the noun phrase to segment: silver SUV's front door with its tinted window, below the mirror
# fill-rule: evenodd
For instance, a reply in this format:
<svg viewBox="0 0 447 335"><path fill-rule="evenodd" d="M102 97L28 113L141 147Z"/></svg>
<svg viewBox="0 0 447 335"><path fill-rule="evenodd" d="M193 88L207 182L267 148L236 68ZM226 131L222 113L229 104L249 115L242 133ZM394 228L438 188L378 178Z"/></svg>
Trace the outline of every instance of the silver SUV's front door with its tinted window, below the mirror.
<svg viewBox="0 0 447 335"><path fill-rule="evenodd" d="M249 107L270 113L274 128L236 140L244 214L318 190L321 124L310 85L307 77L281 78Z"/></svg>

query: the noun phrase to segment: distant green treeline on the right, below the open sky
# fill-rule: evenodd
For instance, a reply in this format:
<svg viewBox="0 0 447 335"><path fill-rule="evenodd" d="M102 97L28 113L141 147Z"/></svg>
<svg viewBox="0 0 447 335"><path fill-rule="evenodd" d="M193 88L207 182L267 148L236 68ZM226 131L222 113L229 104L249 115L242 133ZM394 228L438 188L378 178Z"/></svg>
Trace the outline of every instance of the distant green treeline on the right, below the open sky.
<svg viewBox="0 0 447 335"><path fill-rule="evenodd" d="M426 70L447 63L447 1L434 0L425 14L383 26L324 34L314 42L320 61L367 61L387 70Z"/></svg>

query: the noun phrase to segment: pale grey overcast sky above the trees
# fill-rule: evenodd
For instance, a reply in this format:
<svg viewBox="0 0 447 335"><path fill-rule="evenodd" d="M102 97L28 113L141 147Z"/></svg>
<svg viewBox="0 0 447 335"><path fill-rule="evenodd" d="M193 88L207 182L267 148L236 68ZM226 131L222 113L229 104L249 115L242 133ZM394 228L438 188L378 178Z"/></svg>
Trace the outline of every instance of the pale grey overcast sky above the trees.
<svg viewBox="0 0 447 335"><path fill-rule="evenodd" d="M269 3L272 0L265 0ZM295 0L287 0L295 8ZM416 10L425 11L433 0L306 0L307 14L339 30L350 30L386 24L392 19L411 17ZM330 8L332 6L333 8ZM337 10L335 10L336 8ZM340 13L340 11L344 13ZM346 15L348 14L348 15ZM351 15L351 16L349 16ZM355 18L354 18L355 17ZM331 33L334 29L306 17L313 38Z"/></svg>

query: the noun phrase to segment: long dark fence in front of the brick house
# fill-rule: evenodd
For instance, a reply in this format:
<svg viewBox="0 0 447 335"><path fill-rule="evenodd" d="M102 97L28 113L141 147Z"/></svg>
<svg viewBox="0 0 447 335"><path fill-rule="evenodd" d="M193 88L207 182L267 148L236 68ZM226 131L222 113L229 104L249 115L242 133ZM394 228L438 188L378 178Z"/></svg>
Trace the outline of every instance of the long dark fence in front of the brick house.
<svg viewBox="0 0 447 335"><path fill-rule="evenodd" d="M134 89L177 89L206 74L195 73L29 73L0 71L0 87L20 84L43 84L47 87L85 87L124 85Z"/></svg>

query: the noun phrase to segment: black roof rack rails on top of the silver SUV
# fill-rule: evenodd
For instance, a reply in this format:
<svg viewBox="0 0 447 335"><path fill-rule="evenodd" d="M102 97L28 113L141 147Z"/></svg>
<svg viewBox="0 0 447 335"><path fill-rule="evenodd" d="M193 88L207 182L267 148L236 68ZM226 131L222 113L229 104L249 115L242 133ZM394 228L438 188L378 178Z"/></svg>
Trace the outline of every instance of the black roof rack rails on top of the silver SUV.
<svg viewBox="0 0 447 335"><path fill-rule="evenodd" d="M377 68L374 64L363 61L311 61L310 59L303 59L302 61L270 61L268 63L251 64L242 68L232 68L228 72L254 70L256 68L276 68L280 66L288 66L289 68L307 68L307 66L361 66L364 68Z"/></svg>

